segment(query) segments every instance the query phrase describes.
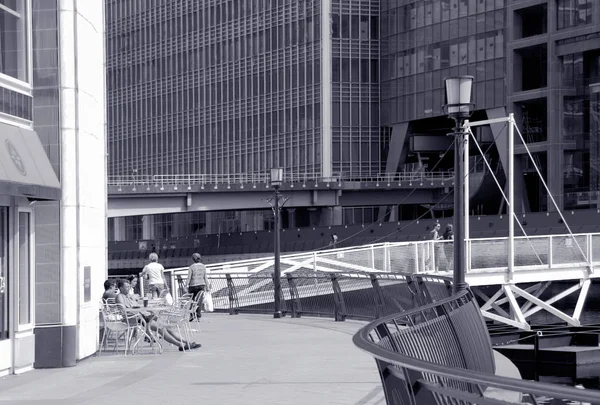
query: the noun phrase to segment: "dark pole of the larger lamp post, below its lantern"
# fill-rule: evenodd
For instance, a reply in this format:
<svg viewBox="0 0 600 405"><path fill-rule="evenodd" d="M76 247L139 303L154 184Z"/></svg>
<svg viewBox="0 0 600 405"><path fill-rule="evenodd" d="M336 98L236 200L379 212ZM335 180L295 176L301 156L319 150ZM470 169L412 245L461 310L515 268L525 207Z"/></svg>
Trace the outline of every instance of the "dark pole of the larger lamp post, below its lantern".
<svg viewBox="0 0 600 405"><path fill-rule="evenodd" d="M465 283L465 231L464 218L461 214L465 211L464 183L465 167L463 156L465 153L463 120L456 119L455 146L454 146L454 274L452 287L454 293L464 290Z"/></svg>

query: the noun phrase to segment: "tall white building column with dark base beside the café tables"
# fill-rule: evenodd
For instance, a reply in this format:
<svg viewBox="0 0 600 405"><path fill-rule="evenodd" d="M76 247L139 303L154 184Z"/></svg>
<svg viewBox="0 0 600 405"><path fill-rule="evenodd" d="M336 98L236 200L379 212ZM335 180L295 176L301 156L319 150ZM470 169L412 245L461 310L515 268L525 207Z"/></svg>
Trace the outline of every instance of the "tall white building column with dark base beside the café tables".
<svg viewBox="0 0 600 405"><path fill-rule="evenodd" d="M61 325L36 330L51 367L74 366L97 351L97 286L108 268L106 187L99 186L106 184L104 8L80 3L58 1Z"/></svg>

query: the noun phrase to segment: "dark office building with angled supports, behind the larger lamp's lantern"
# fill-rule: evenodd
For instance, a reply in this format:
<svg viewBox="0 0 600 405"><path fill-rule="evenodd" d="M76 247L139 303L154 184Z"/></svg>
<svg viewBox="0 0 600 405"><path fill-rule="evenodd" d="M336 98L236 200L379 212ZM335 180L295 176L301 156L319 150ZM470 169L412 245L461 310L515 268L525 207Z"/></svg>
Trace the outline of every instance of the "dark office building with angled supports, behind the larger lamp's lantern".
<svg viewBox="0 0 600 405"><path fill-rule="evenodd" d="M532 152L533 159L517 135L515 208L556 209L535 166L560 209L596 207L600 4L535 3L382 1L382 124L405 148L411 138L450 132L441 109L443 79L474 76L472 120L514 113ZM488 158L506 167L504 128L477 135L491 146ZM392 166L414 164L414 152L399 153ZM440 163L427 157L430 167Z"/></svg>

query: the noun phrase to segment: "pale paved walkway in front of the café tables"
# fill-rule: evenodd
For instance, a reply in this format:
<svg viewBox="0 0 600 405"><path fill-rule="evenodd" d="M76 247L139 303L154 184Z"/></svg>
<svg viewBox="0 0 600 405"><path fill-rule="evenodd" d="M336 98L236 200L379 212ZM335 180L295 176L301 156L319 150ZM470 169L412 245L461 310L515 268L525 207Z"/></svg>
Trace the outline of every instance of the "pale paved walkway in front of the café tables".
<svg viewBox="0 0 600 405"><path fill-rule="evenodd" d="M0 379L0 404L385 404L359 322L208 314L180 353L106 354L76 367Z"/></svg>

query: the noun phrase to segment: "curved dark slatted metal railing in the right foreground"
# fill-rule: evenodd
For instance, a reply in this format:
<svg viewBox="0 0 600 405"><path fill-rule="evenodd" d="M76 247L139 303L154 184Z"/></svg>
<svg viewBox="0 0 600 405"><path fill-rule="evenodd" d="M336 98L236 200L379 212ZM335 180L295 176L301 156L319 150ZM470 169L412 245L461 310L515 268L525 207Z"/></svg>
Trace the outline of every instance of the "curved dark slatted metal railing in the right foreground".
<svg viewBox="0 0 600 405"><path fill-rule="evenodd" d="M600 403L596 390L494 375L489 335L469 290L373 321L353 341L375 358L388 405Z"/></svg>

